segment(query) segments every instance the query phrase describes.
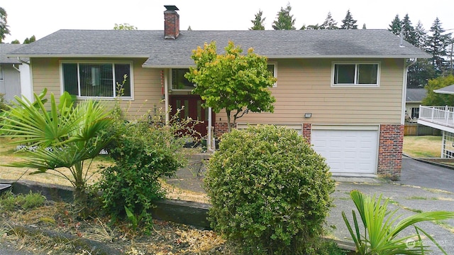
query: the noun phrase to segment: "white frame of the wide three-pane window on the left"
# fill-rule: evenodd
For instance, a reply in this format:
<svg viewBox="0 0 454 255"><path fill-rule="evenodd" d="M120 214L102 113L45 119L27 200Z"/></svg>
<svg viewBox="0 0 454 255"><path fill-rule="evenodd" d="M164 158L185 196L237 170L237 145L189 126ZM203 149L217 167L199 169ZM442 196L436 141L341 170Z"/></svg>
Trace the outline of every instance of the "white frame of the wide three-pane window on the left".
<svg viewBox="0 0 454 255"><path fill-rule="evenodd" d="M133 61L121 61L121 60L118 60L118 61L114 61L114 60L106 60L106 61L100 61L100 60L60 60L60 91L61 91L61 94L63 94L63 92L65 92L65 84L63 82L63 65L62 64L77 64L77 75L79 76L79 64L129 64L129 67L130 67L130 71L129 71L129 75L130 77L128 77L128 79L130 80L130 84L131 84L131 96L123 96L123 97L120 97L121 99L123 100L133 100L134 99L134 78L133 78L133 74L134 74L134 71L133 71ZM114 70L115 72L115 70ZM114 73L115 75L115 73ZM123 81L122 81L123 82ZM78 81L79 83L79 81ZM79 87L80 87L80 84L79 84ZM80 91L80 89L79 89ZM114 91L114 94L115 91ZM77 95L76 97L77 99L105 99L105 100L114 100L116 99L116 97L87 97L87 96L79 96Z"/></svg>

